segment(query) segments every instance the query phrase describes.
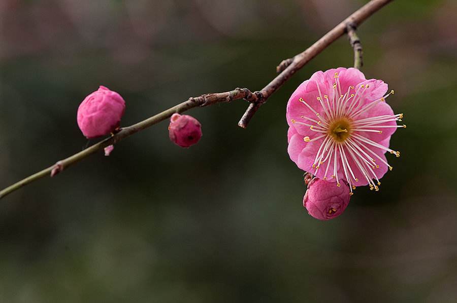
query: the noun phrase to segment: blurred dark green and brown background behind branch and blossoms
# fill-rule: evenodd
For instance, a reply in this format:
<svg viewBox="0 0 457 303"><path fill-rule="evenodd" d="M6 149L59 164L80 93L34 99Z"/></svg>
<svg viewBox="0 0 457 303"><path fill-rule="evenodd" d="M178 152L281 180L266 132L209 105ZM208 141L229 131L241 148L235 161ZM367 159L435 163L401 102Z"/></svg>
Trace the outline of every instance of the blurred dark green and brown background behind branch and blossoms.
<svg viewBox="0 0 457 303"><path fill-rule="evenodd" d="M0 184L86 144L79 103L99 85L130 125L190 96L258 90L356 0L0 1ZM339 218L302 206L285 105L316 70L352 65L342 37L248 129L241 100L189 113L181 149L161 123L0 203L2 302L457 301L457 2L395 1L358 30L367 78L405 114L380 192Z"/></svg>

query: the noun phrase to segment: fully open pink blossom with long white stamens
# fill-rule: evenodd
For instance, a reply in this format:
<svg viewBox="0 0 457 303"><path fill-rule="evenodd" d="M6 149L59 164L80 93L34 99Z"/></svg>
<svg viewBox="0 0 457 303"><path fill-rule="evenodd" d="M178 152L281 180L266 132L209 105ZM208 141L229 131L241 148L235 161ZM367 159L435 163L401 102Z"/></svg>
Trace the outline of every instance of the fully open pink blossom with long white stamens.
<svg viewBox="0 0 457 303"><path fill-rule="evenodd" d="M403 114L394 115L385 98L382 80L366 80L355 68L339 67L315 72L293 92L286 118L290 159L300 169L320 179L341 180L355 186L369 185L376 191L379 179L392 167L385 153L400 157L389 148L390 136Z"/></svg>

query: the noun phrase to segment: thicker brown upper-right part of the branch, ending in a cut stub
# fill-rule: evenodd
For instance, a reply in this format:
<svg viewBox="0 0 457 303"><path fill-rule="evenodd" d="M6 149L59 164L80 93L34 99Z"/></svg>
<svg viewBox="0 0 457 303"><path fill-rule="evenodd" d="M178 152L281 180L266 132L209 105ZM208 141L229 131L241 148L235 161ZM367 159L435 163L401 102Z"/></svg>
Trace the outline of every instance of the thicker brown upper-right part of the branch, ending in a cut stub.
<svg viewBox="0 0 457 303"><path fill-rule="evenodd" d="M244 112L243 117L241 117L238 125L242 128L246 128L249 121L254 116L257 109L264 104L267 99L273 94L278 88L280 88L294 73L296 73L300 68L303 67L309 60L314 58L317 54L322 52L340 36L346 32L347 24L353 24L354 26L360 25L368 17L373 15L376 11L381 9L384 5L391 2L392 0L372 0L349 17L344 19L340 24L331 29L328 33L323 35L318 41L316 41L311 47L306 51L293 56L290 59L283 60L276 70L281 72L273 81L271 81L266 87L264 87L259 92L262 94L263 98L256 100L249 104L248 108Z"/></svg>

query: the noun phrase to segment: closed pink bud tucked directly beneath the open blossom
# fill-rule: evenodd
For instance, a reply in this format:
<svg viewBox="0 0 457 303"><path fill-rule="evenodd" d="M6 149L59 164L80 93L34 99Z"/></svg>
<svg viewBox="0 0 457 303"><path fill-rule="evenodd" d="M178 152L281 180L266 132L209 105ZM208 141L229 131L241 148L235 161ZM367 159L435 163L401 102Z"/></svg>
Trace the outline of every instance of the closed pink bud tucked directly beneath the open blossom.
<svg viewBox="0 0 457 303"><path fill-rule="evenodd" d="M308 190L303 197L303 206L314 218L330 220L343 213L350 198L349 186L346 183L314 178L308 183Z"/></svg>

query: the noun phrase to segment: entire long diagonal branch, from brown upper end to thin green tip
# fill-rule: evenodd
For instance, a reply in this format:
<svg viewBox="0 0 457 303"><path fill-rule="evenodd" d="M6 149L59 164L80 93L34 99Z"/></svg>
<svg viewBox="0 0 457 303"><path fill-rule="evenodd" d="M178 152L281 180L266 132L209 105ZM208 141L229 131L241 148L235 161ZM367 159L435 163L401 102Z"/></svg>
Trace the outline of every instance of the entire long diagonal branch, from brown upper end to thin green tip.
<svg viewBox="0 0 457 303"><path fill-rule="evenodd" d="M36 173L33 174L25 179L20 180L19 182L14 183L13 185L5 188L4 190L0 191L0 199L5 197L6 195L18 190L20 187L43 178L47 175L54 176L55 174L67 169L71 165L78 163L79 161L87 158L88 156L99 152L103 148L115 144L120 140L131 136L145 128L148 128L160 121L164 121L170 118L173 113L178 112L181 113L193 107L203 107L208 105L213 105L216 103L222 102L230 102L232 100L238 99L245 99L249 101L249 107L244 113L243 117L241 118L238 125L242 128L246 128L247 124L253 117L254 113L257 109L267 101L267 99L278 89L280 88L295 72L297 72L300 68L302 68L309 60L314 58L317 54L322 52L325 48L327 48L331 43L337 40L341 35L344 34L346 31L347 24L353 24L354 26L360 25L365 19L371 16L373 13L378 11L384 5L389 3L392 0L371 0L368 4L363 6L362 8L358 9L348 18L346 18L343 22L338 24L332 30L330 30L327 34L325 34L321 39L315 42L310 48L306 51L290 58L286 59L281 62L281 64L277 67L277 71L280 72L279 75L275 79L273 79L267 86L265 86L262 90L251 92L246 88L236 88L230 92L224 93L211 93L201 95L199 97L192 97L189 98L187 101L182 102L178 105L175 105L167 110L164 110L157 115L152 116L146 120L143 120L137 124L132 126L124 127L116 134L112 135L109 138L106 138L98 143L95 143L88 148L82 150L69 158L63 159L58 161L56 164Z"/></svg>

